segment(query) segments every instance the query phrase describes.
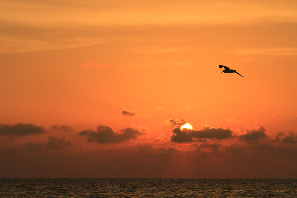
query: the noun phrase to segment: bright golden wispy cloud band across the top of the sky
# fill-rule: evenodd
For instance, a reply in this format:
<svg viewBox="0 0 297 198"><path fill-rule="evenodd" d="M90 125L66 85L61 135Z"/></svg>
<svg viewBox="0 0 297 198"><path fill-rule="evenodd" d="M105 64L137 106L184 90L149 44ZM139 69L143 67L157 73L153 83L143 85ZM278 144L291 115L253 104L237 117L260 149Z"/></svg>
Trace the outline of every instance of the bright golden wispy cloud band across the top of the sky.
<svg viewBox="0 0 297 198"><path fill-rule="evenodd" d="M1 1L2 18L30 25L164 25L296 22L294 1ZM19 14L21 13L21 15ZM54 15L53 15L54 13ZM19 15L18 15L19 14Z"/></svg>

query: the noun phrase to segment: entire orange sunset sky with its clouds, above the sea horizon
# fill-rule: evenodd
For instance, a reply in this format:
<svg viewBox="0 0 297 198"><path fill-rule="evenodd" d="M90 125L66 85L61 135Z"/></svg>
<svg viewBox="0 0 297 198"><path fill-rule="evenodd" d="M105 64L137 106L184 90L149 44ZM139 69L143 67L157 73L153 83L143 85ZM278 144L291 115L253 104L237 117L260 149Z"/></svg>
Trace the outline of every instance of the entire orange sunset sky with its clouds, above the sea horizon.
<svg viewBox="0 0 297 198"><path fill-rule="evenodd" d="M297 178L296 1L0 9L0 178Z"/></svg>

